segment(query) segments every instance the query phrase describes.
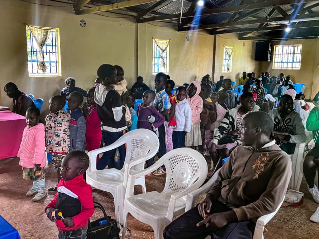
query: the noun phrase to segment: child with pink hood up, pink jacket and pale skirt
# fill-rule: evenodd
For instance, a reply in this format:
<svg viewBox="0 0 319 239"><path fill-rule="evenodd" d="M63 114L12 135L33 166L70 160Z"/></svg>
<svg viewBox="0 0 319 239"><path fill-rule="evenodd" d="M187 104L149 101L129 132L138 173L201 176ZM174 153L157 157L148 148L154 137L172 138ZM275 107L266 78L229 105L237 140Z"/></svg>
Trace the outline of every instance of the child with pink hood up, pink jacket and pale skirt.
<svg viewBox="0 0 319 239"><path fill-rule="evenodd" d="M197 81L193 81L187 87L187 100L192 109L192 126L190 128L190 132L188 132L185 136L185 144L186 146L197 147L198 145L202 145L202 134L200 131L199 123L200 113L203 111L203 99L199 96L201 91L200 83Z"/></svg>

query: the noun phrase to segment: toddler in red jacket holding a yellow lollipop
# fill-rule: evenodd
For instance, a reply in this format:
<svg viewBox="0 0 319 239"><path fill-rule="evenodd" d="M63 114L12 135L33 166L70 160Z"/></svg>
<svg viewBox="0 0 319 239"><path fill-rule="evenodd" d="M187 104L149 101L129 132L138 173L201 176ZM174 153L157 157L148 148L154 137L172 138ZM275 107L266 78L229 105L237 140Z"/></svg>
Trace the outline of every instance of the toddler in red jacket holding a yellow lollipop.
<svg viewBox="0 0 319 239"><path fill-rule="evenodd" d="M45 208L58 227L59 239L87 237L88 220L94 213L92 187L83 179L88 167L89 157L83 151L72 151L63 158L58 192Z"/></svg>

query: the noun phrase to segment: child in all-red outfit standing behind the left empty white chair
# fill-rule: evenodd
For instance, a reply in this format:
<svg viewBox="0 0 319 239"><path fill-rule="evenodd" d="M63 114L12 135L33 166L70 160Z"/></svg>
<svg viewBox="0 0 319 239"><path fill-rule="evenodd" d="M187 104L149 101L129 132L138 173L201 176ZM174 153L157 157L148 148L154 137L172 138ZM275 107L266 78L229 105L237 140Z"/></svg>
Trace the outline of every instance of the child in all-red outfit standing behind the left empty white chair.
<svg viewBox="0 0 319 239"><path fill-rule="evenodd" d="M98 111L96 108L96 103L94 102L95 87L91 88L87 91L87 104L84 104L82 107L83 114L86 120L86 147L87 151L100 148L101 140L102 140L102 131L101 131L101 120L98 115ZM97 156L96 163L100 160L100 157Z"/></svg>

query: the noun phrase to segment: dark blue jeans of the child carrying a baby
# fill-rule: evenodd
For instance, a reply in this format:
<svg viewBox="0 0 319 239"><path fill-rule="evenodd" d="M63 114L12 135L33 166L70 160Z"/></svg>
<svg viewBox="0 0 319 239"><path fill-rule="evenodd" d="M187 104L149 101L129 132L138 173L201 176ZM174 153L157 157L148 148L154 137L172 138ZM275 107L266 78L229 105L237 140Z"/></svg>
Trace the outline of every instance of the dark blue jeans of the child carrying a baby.
<svg viewBox="0 0 319 239"><path fill-rule="evenodd" d="M108 132L103 130L102 131L102 138L104 142L104 146L111 145L115 141L117 141L121 136L123 136L123 131L120 132ZM115 168L115 169L122 169L125 161L125 155L126 155L126 149L125 144L118 147L119 153L120 153L120 161L115 162L114 161L114 154L116 152L116 148L112 149L110 151L104 152L103 156L100 158L98 164L96 165L97 170L102 170L108 165L109 169Z"/></svg>

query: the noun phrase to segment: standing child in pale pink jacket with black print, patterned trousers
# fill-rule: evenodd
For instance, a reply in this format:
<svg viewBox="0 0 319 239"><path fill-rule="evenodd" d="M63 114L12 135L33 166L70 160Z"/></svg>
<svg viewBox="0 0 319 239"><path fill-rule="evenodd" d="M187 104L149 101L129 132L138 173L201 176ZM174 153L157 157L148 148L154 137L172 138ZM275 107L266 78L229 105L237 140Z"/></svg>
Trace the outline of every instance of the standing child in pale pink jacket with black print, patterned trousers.
<svg viewBox="0 0 319 239"><path fill-rule="evenodd" d="M45 118L45 144L52 157L57 182L60 180L62 159L70 150L70 115L63 110L64 104L62 96L53 96L49 100L50 114ZM56 190L56 186L48 189L49 192Z"/></svg>

